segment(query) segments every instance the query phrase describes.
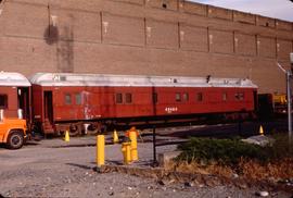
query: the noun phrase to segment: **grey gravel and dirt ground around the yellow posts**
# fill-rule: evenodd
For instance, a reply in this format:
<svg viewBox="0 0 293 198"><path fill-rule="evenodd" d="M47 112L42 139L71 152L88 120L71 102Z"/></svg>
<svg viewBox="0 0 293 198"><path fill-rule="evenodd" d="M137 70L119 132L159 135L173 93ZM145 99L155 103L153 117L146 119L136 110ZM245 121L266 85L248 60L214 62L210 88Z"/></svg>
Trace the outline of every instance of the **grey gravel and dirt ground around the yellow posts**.
<svg viewBox="0 0 293 198"><path fill-rule="evenodd" d="M120 173L97 173L94 137L30 143L20 150L0 148L0 195L3 197L257 197L256 187L207 184L162 184L155 178ZM151 143L139 144L139 162L152 162ZM157 152L176 150L176 146L157 147ZM105 147L107 164L122 163L119 145ZM291 197L269 191L270 197ZM0 196L0 197L1 197Z"/></svg>

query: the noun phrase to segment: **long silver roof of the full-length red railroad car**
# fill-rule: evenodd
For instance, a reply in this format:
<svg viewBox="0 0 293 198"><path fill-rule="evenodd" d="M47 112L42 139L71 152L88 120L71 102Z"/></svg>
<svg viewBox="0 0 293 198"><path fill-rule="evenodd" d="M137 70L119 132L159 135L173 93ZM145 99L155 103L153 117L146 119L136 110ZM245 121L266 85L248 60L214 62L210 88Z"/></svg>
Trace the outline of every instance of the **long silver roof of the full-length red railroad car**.
<svg viewBox="0 0 293 198"><path fill-rule="evenodd" d="M250 79L180 76L142 76L76 73L37 73L30 83L40 86L129 86L129 87L250 87Z"/></svg>

